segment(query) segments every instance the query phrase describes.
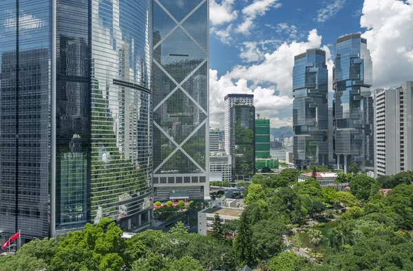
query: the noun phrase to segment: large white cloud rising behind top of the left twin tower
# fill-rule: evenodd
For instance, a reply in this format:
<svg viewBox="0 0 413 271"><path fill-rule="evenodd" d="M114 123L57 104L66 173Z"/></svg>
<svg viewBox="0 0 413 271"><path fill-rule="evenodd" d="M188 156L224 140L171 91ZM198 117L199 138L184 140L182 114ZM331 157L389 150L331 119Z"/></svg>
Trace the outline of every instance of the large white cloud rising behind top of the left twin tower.
<svg viewBox="0 0 413 271"><path fill-rule="evenodd" d="M229 78L244 78L252 80L255 84L273 83L281 96L293 96L293 66L294 56L306 52L310 48L321 46L321 36L317 30L311 30L307 41L283 43L271 54L264 55L264 61L254 65L237 65L227 76ZM330 56L328 47L323 47Z"/></svg>

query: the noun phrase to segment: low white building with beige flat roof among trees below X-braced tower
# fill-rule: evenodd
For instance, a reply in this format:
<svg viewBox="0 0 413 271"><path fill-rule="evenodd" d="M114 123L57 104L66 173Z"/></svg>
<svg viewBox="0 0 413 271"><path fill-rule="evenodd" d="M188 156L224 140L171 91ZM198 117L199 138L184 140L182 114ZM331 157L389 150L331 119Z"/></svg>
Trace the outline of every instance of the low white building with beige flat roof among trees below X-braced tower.
<svg viewBox="0 0 413 271"><path fill-rule="evenodd" d="M242 208L229 207L215 207L200 210L198 212L198 233L200 235L207 235L208 232L211 232L215 215L219 215L221 223L225 223L227 221L240 219L242 211Z"/></svg>

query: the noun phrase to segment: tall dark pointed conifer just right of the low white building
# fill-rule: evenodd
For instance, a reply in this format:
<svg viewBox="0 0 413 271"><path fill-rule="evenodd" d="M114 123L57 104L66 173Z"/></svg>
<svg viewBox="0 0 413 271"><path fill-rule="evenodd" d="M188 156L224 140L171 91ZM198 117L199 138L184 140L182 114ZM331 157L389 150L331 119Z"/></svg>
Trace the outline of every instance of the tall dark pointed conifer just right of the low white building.
<svg viewBox="0 0 413 271"><path fill-rule="evenodd" d="M248 208L247 208L248 209ZM238 256L245 263L253 263L252 254L252 236L250 221L248 218L248 210L244 210L238 224L237 235L233 241L233 246L237 251Z"/></svg>

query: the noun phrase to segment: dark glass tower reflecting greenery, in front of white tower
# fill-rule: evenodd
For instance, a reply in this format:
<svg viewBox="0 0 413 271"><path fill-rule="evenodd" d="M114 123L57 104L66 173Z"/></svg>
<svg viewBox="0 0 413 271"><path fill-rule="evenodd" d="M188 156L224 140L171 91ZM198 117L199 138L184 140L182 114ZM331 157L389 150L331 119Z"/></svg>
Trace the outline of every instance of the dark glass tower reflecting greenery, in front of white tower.
<svg viewBox="0 0 413 271"><path fill-rule="evenodd" d="M233 181L250 180L255 174L255 107L231 107L231 144L229 153L233 164Z"/></svg>

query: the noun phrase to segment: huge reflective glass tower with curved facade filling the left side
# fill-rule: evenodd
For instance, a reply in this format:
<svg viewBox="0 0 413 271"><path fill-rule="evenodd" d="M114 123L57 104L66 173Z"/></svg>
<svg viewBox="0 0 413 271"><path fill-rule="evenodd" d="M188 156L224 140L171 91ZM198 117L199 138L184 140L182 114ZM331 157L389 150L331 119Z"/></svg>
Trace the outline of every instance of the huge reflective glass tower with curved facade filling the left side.
<svg viewBox="0 0 413 271"><path fill-rule="evenodd" d="M149 221L152 2L0 9L1 235Z"/></svg>

